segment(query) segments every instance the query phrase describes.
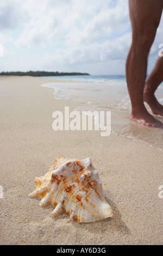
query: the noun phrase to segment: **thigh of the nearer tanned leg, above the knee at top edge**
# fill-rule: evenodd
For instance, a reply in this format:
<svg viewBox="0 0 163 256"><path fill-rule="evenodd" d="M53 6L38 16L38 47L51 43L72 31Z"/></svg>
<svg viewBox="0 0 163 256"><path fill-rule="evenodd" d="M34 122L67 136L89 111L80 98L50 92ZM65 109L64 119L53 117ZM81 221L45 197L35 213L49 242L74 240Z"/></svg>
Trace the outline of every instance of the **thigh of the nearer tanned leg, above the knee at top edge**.
<svg viewBox="0 0 163 256"><path fill-rule="evenodd" d="M160 23L163 0L129 0L129 13L134 32L145 33L157 29Z"/></svg>

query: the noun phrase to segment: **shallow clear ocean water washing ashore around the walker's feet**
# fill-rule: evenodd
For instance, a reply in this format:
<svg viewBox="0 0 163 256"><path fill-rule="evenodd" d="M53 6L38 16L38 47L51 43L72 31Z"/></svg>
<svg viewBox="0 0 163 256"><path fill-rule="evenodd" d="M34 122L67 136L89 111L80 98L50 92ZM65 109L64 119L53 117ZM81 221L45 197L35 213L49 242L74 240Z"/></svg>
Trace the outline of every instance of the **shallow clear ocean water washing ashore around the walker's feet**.
<svg viewBox="0 0 163 256"><path fill-rule="evenodd" d="M126 76L57 76L49 78L49 83L42 86L54 88L54 97L59 100L78 102L77 111L111 111L111 131L118 136L134 139L163 150L163 130L131 124L130 98ZM66 83L53 83L52 79L66 80ZM71 82L73 81L73 82ZM156 90L155 96L163 104L163 83ZM145 103L149 113L151 109ZM57 109L59 110L59 109ZM155 116L163 122L163 118Z"/></svg>

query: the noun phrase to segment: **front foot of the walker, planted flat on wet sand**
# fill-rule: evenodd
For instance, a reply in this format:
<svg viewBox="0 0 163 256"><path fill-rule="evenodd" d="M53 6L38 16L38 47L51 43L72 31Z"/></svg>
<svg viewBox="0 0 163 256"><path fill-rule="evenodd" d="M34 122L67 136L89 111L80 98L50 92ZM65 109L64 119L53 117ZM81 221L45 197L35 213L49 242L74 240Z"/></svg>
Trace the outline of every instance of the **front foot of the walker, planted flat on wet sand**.
<svg viewBox="0 0 163 256"><path fill-rule="evenodd" d="M131 113L130 121L131 123L163 129L163 124L159 120L155 119L151 114L149 114L146 108L138 114L133 115L133 113Z"/></svg>

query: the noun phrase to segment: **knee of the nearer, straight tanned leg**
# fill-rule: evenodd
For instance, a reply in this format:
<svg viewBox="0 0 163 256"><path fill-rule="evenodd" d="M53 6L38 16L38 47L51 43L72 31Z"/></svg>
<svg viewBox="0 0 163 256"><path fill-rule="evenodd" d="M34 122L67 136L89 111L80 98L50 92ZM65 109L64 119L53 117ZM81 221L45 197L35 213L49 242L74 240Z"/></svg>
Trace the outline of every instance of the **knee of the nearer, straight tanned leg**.
<svg viewBox="0 0 163 256"><path fill-rule="evenodd" d="M141 52L141 54L148 55L155 39L156 30L156 25L147 23L147 25L142 26L138 32L133 33L133 45L135 49Z"/></svg>

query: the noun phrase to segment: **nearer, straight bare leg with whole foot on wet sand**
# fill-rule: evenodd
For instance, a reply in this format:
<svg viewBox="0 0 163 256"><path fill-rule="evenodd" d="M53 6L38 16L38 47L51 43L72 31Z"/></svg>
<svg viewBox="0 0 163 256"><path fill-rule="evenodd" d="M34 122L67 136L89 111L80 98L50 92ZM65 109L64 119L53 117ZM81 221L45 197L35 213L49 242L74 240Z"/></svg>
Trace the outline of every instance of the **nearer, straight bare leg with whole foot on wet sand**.
<svg viewBox="0 0 163 256"><path fill-rule="evenodd" d="M148 113L143 103L147 59L159 26L163 0L129 0L133 40L126 62L126 77L131 100L130 120L135 123L161 127L160 121Z"/></svg>

